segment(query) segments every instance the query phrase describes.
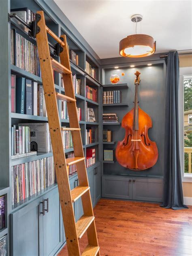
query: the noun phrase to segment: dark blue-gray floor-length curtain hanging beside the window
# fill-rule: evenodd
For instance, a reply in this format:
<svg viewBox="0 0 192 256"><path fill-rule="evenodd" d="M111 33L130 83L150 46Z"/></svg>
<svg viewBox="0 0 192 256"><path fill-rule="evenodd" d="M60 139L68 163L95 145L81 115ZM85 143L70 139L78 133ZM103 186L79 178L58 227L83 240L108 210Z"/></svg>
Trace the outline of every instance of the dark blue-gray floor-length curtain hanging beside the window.
<svg viewBox="0 0 192 256"><path fill-rule="evenodd" d="M183 205L181 165L179 158L179 57L169 52L166 57L166 102L165 102L165 150L164 150L164 191L162 207L174 210L188 208Z"/></svg>

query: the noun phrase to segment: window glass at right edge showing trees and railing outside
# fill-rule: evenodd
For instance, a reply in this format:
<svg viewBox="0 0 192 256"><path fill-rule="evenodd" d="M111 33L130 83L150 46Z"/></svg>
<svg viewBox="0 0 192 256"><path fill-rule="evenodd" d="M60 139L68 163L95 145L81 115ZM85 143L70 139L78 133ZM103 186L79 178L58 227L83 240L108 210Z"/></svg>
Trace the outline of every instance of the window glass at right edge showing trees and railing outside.
<svg viewBox="0 0 192 256"><path fill-rule="evenodd" d="M184 177L192 176L192 76L184 76Z"/></svg>

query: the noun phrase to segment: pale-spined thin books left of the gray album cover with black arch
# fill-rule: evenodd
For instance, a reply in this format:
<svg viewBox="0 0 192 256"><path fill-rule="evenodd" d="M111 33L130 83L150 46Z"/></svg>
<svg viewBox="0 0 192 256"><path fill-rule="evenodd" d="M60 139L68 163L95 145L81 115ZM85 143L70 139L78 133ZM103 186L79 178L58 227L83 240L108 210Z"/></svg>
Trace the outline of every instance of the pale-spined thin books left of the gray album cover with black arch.
<svg viewBox="0 0 192 256"><path fill-rule="evenodd" d="M30 127L15 124L11 127L11 159L36 155L30 148Z"/></svg>

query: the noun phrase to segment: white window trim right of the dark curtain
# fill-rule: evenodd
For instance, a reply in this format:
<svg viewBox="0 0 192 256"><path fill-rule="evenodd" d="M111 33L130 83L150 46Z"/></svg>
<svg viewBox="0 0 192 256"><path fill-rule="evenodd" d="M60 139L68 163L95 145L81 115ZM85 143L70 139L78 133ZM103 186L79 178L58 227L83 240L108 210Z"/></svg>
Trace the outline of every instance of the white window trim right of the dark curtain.
<svg viewBox="0 0 192 256"><path fill-rule="evenodd" d="M191 174L184 174L184 90L183 82L186 78L192 78L192 67L179 68L179 149L181 162L181 177L183 182L192 182Z"/></svg>

